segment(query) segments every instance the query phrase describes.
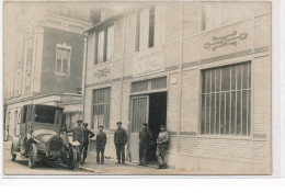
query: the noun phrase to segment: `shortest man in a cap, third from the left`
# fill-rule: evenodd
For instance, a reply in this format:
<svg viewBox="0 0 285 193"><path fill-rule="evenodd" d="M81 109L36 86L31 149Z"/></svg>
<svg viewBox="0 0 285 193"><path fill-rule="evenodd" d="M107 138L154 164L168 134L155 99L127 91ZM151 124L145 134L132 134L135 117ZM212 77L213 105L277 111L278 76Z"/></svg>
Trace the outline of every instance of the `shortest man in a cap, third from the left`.
<svg viewBox="0 0 285 193"><path fill-rule="evenodd" d="M98 128L99 128L99 133L96 135L96 163L100 164L100 152L101 152L101 164L104 164L106 134L103 132L103 126L99 126Z"/></svg>

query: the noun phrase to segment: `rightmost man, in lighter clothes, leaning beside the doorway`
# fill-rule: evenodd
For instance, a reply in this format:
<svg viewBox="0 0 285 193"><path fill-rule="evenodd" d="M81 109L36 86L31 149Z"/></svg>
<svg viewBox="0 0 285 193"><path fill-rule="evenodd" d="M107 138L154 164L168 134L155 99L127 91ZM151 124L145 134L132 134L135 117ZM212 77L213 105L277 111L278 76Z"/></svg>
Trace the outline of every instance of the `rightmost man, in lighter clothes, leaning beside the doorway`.
<svg viewBox="0 0 285 193"><path fill-rule="evenodd" d="M159 162L158 169L166 169L167 163L166 163L166 154L167 154L167 148L168 148L168 143L169 143L169 134L166 130L166 125L160 125L160 133L158 135L157 139L157 159Z"/></svg>

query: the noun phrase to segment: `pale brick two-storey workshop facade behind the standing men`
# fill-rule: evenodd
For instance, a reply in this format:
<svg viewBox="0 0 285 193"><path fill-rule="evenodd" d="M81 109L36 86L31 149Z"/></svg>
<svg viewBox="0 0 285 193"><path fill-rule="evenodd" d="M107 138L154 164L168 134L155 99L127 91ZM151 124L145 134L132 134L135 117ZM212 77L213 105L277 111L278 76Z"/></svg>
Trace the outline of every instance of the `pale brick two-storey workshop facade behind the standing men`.
<svg viewBox="0 0 285 193"><path fill-rule="evenodd" d="M138 160L147 122L170 133L167 161L194 174L271 173L271 4L157 3L87 31L84 122L122 121Z"/></svg>

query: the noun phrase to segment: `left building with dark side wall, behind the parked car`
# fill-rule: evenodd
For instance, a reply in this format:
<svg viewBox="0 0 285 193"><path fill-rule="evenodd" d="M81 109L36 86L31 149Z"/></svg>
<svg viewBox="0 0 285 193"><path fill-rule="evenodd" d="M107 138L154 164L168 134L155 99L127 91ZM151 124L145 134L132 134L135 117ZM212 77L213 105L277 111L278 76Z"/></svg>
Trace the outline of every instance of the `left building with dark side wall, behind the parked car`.
<svg viewBox="0 0 285 193"><path fill-rule="evenodd" d="M82 88L82 32L91 24L69 11L68 7L20 10L13 27L5 25L5 138L19 134L18 120L24 104L58 105L82 100L78 92ZM12 19L7 15L8 22Z"/></svg>

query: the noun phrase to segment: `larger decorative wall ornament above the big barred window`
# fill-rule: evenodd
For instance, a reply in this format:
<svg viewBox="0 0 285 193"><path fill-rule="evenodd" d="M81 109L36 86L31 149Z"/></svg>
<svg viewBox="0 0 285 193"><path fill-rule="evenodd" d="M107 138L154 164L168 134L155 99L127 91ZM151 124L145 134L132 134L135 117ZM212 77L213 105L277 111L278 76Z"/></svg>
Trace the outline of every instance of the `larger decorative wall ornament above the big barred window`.
<svg viewBox="0 0 285 193"><path fill-rule="evenodd" d="M213 37L213 42L212 43L205 43L204 44L204 48L205 49L212 49L213 52L215 52L217 48L220 47L225 47L225 46L237 46L237 42L238 41L242 41L248 38L249 34L247 32L240 33L238 35L237 31L233 31L231 34L228 35L224 35L224 36L219 36Z"/></svg>

